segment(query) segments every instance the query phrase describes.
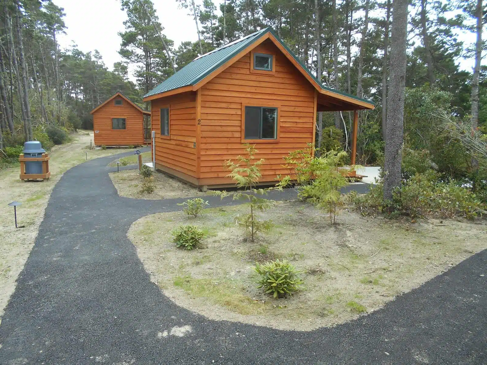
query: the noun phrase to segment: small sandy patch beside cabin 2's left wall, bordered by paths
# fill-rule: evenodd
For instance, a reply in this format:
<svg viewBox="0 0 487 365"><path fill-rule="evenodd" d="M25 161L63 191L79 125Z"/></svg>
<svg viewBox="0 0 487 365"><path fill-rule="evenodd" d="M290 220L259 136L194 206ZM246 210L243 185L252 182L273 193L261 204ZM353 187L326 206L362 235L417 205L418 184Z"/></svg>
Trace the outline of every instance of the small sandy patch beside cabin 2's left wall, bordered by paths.
<svg viewBox="0 0 487 365"><path fill-rule="evenodd" d="M189 184L170 177L162 172L155 172L153 193L140 193L142 179L138 170L125 170L120 172L111 172L110 178L117 189L118 195L127 198L136 199L168 199L168 198L187 198L203 196L209 193L203 193Z"/></svg>

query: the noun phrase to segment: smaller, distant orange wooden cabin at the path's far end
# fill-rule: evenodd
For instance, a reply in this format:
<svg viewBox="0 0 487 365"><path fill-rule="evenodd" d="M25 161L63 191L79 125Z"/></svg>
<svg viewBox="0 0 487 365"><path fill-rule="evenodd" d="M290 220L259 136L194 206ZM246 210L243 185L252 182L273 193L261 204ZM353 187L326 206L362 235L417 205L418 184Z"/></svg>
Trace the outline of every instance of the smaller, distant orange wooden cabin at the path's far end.
<svg viewBox="0 0 487 365"><path fill-rule="evenodd" d="M150 111L143 110L121 92L98 105L90 114L93 115L95 145L150 144L150 128L144 128L144 116L150 116Z"/></svg>

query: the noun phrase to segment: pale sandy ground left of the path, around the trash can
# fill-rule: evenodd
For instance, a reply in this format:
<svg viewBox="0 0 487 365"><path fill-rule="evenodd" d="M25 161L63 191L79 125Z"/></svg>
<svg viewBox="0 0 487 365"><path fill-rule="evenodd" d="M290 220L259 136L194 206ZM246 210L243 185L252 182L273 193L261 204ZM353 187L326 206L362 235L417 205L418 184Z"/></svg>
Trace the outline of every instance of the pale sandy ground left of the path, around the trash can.
<svg viewBox="0 0 487 365"><path fill-rule="evenodd" d="M93 131L79 131L71 135L73 141L55 146L50 151L49 169L51 178L44 182L19 180L18 166L0 172L0 316L15 289L15 282L37 236L38 227L44 219L44 210L54 185L69 168L88 160L125 152L127 149L90 150ZM7 206L11 201L20 201L17 207L19 225L15 228L14 209Z"/></svg>

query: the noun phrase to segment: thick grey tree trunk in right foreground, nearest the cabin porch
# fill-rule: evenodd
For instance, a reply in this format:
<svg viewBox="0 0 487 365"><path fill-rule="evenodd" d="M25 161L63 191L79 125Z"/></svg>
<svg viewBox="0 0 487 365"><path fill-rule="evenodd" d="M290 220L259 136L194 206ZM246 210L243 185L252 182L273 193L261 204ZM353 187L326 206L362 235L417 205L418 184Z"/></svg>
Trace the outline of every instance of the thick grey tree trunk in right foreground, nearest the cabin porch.
<svg viewBox="0 0 487 365"><path fill-rule="evenodd" d="M384 200L392 200L401 186L402 145L404 142L404 89L406 87L406 43L408 0L393 1L391 60L387 108L387 137L384 165Z"/></svg>

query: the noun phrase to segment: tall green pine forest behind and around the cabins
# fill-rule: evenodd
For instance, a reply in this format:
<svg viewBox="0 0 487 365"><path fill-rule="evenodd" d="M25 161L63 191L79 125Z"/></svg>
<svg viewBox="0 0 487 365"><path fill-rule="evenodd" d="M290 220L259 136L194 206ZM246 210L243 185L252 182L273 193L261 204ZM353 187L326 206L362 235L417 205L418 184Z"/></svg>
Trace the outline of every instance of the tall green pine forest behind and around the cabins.
<svg viewBox="0 0 487 365"><path fill-rule="evenodd" d="M118 33L122 61L109 71L96 50L60 49L57 37L66 25L55 1L1 0L0 148L52 126L92 128L89 111L115 91L141 103L144 93L196 56L271 26L324 85L376 104L360 115L357 161L384 163L386 85L395 77L392 0L174 1L194 20L197 41L167 38L151 0L121 0L127 14ZM482 0L410 0L405 14L403 151L426 151L431 164L450 176L466 176L476 162L470 147L448 128L437 128L441 121L486 133L487 73L480 65L485 6ZM462 32L472 41L462 42ZM461 68L462 60L475 67ZM320 113L318 143L338 138L348 150L351 123L348 112Z"/></svg>

